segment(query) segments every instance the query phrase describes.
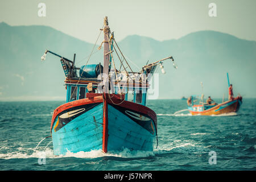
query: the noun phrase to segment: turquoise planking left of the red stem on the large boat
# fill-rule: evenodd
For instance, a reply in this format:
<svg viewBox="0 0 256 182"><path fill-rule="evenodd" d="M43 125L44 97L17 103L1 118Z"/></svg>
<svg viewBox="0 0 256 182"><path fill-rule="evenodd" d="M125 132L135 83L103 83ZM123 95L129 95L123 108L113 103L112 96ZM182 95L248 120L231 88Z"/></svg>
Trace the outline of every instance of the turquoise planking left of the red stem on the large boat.
<svg viewBox="0 0 256 182"><path fill-rule="evenodd" d="M55 132L56 121L57 117L52 129L54 155L64 155L67 151L75 153L102 149L102 104L81 114Z"/></svg>

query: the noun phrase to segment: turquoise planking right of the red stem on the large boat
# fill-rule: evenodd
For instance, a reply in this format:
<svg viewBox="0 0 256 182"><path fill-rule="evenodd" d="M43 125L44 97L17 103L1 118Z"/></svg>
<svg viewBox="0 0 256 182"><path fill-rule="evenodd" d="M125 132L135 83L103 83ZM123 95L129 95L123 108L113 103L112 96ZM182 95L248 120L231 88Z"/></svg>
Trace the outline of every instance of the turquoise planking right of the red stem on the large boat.
<svg viewBox="0 0 256 182"><path fill-rule="evenodd" d="M132 119L108 105L108 151L129 148L152 151L156 134L138 125ZM152 124L155 131L155 126Z"/></svg>

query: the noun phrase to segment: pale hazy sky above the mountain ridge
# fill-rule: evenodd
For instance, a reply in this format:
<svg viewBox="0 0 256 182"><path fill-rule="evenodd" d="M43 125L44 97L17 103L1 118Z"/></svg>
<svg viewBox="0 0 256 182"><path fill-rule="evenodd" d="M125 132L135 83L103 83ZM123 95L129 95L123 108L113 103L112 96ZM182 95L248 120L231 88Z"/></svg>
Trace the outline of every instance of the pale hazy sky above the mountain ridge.
<svg viewBox="0 0 256 182"><path fill-rule="evenodd" d="M46 16L38 15L39 3L46 5ZM209 16L210 3L216 5L215 17ZM0 22L50 26L89 43L96 42L105 16L117 41L134 34L179 39L201 30L256 40L255 7L255 0L1 0Z"/></svg>

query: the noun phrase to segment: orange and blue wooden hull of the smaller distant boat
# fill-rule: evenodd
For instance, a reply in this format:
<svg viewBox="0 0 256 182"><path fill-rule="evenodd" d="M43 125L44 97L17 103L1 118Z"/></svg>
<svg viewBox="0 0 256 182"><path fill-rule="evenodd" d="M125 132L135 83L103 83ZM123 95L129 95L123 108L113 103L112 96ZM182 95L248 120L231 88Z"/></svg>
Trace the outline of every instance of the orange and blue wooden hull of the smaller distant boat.
<svg viewBox="0 0 256 182"><path fill-rule="evenodd" d="M189 112L192 115L219 115L236 113L242 104L242 97L234 98L233 100L223 102L216 106L212 106L209 109L203 109L203 105L193 105L188 107Z"/></svg>

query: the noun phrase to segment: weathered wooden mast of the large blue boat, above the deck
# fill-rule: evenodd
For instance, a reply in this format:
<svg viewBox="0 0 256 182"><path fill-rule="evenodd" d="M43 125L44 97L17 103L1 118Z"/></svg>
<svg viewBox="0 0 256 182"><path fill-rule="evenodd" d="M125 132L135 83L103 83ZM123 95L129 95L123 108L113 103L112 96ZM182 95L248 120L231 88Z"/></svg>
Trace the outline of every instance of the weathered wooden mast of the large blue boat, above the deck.
<svg viewBox="0 0 256 182"><path fill-rule="evenodd" d="M105 16L104 18L104 67L103 67L103 73L104 73L104 93L108 93L108 77L109 77L109 22L108 22L108 16ZM108 76L108 77L107 77ZM106 80L107 79L107 80Z"/></svg>

